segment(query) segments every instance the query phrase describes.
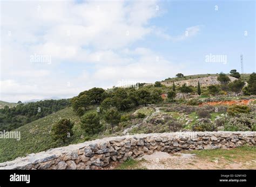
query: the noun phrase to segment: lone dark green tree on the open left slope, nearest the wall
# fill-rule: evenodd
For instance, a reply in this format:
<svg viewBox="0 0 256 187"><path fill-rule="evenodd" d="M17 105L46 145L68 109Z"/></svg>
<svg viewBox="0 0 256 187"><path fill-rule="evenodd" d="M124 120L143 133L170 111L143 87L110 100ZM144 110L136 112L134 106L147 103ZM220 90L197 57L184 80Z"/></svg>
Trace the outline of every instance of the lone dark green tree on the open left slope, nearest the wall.
<svg viewBox="0 0 256 187"><path fill-rule="evenodd" d="M62 140L64 143L73 135L74 123L70 119L61 119L52 126L51 135L53 140Z"/></svg>

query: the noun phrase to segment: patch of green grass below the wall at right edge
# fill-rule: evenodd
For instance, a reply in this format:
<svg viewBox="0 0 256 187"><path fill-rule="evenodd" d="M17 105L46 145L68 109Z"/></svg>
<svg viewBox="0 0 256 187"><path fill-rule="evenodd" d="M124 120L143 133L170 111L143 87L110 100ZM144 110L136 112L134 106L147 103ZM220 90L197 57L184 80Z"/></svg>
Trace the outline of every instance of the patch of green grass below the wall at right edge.
<svg viewBox="0 0 256 187"><path fill-rule="evenodd" d="M196 154L199 159L209 161L216 159L229 162L256 160L256 146L241 146L232 149L192 150L190 153Z"/></svg>

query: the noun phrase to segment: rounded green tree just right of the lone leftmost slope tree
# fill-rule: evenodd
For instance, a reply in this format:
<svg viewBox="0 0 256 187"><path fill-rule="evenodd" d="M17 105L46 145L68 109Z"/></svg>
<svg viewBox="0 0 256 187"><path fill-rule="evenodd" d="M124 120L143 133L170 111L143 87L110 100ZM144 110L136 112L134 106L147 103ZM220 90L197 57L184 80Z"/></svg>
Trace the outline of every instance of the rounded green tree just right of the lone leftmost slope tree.
<svg viewBox="0 0 256 187"><path fill-rule="evenodd" d="M99 116L97 113L87 113L81 118L81 128L87 133L98 133L102 129L102 124L100 124Z"/></svg>

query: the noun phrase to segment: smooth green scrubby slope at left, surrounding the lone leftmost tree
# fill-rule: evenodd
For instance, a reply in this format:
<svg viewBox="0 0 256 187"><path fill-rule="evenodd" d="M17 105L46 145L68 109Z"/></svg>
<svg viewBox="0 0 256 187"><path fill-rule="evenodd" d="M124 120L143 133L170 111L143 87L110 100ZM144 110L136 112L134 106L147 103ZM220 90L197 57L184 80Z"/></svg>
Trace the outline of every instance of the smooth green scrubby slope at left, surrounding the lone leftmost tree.
<svg viewBox="0 0 256 187"><path fill-rule="evenodd" d="M19 141L0 139L0 162L62 146L53 142L50 136L52 125L61 118L71 118L75 122L73 138L76 139L79 118L69 107L17 128L17 131L21 131L21 140Z"/></svg>

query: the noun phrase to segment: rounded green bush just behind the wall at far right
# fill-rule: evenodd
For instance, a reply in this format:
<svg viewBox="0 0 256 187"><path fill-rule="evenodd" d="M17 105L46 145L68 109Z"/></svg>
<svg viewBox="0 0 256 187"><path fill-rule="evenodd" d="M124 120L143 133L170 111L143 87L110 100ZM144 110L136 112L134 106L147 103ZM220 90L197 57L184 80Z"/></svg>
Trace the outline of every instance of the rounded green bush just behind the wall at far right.
<svg viewBox="0 0 256 187"><path fill-rule="evenodd" d="M225 131L252 131L255 125L247 117L235 117L224 126Z"/></svg>

